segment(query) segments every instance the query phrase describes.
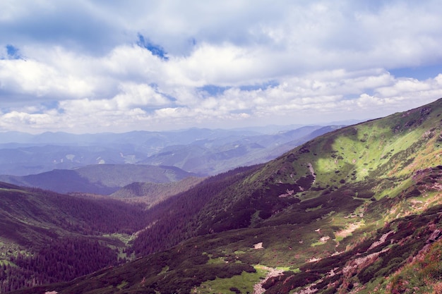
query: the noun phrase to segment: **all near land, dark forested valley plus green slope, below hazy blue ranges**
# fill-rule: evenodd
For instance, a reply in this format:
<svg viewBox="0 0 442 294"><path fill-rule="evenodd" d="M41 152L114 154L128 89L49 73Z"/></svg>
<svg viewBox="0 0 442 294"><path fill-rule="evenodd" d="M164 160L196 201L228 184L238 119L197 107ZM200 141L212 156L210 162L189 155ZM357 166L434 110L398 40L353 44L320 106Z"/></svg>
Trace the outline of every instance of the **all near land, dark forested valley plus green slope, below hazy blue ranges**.
<svg viewBox="0 0 442 294"><path fill-rule="evenodd" d="M439 293L441 157L438 99L319 135L148 208L2 184L2 289Z"/></svg>

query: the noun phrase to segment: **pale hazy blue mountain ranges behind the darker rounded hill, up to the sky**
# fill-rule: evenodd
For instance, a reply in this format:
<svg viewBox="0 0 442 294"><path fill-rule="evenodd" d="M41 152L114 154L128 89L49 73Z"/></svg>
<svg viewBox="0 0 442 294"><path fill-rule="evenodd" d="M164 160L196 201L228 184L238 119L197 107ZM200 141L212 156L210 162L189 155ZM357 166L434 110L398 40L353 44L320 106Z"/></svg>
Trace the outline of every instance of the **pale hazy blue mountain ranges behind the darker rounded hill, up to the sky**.
<svg viewBox="0 0 442 294"><path fill-rule="evenodd" d="M82 135L6 132L0 133L0 174L27 176L94 164L155 164L214 175L274 159L322 127L293 128L256 129L274 133L205 128Z"/></svg>

